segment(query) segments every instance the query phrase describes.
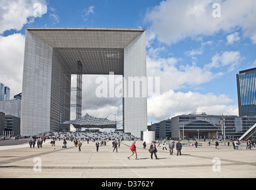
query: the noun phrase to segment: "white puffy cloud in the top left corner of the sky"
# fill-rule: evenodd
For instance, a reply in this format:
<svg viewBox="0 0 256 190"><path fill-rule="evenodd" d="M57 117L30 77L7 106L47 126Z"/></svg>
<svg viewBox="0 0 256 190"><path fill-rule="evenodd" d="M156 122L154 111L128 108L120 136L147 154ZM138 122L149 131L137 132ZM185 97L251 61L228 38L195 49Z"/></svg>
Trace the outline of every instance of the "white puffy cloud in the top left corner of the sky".
<svg viewBox="0 0 256 190"><path fill-rule="evenodd" d="M45 0L0 1L0 34L11 29L21 30L24 24L33 22L35 17L40 17L46 12Z"/></svg>

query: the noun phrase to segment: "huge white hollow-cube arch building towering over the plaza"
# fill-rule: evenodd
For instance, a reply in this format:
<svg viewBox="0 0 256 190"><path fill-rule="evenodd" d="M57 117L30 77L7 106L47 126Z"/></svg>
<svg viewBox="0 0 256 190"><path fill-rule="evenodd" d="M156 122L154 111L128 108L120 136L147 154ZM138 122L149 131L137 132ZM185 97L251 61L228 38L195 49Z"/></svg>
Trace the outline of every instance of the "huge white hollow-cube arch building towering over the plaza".
<svg viewBox="0 0 256 190"><path fill-rule="evenodd" d="M78 61L82 74L114 72L127 81L146 77L145 30L28 27L21 135L69 128L61 122L70 120L70 78L78 72ZM123 119L124 132L140 137L147 129L146 97L123 97Z"/></svg>

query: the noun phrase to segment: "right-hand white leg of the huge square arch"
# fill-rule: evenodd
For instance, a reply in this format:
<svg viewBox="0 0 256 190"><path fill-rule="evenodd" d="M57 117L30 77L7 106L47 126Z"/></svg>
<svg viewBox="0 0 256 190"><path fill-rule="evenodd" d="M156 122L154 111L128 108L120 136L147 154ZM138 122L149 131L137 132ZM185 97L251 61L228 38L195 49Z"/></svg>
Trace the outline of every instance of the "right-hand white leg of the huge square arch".
<svg viewBox="0 0 256 190"><path fill-rule="evenodd" d="M147 75L145 35L141 33L124 49L124 79L128 82L123 91L126 93L123 94L124 132L130 132L137 138L141 137L141 131L147 130L147 96L143 96L147 89L146 80L143 80ZM135 79L139 80L139 88L134 85Z"/></svg>

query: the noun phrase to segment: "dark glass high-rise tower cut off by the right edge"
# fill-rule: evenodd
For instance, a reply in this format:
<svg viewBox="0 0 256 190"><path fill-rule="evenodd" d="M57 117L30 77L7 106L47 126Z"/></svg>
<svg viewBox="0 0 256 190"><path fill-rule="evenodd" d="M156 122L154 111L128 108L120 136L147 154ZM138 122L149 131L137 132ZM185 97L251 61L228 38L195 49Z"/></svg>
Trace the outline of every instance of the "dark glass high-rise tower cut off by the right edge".
<svg viewBox="0 0 256 190"><path fill-rule="evenodd" d="M236 74L239 116L256 116L256 68Z"/></svg>

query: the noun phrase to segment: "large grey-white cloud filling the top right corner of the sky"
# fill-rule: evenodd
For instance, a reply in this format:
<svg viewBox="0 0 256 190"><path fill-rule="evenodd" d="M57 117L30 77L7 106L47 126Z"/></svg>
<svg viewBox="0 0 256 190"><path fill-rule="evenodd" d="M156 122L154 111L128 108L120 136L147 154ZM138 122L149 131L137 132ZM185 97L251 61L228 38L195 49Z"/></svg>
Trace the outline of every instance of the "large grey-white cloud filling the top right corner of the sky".
<svg viewBox="0 0 256 190"><path fill-rule="evenodd" d="M212 4L219 3L221 17L212 17ZM218 31L241 28L243 35L256 43L256 2L254 0L162 1L147 11L145 20L160 42L168 45L190 37L210 36Z"/></svg>

